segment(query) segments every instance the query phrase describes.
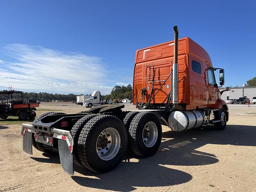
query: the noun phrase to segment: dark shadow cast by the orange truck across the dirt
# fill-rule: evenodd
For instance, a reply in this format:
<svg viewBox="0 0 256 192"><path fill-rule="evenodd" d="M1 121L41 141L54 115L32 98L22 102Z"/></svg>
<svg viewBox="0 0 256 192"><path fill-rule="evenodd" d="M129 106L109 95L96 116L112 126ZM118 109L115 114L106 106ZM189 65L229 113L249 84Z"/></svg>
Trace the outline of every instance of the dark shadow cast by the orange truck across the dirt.
<svg viewBox="0 0 256 192"><path fill-rule="evenodd" d="M218 162L218 157L207 152L207 144L256 146L256 126L228 125L224 131L217 131L214 126L203 126L186 132L164 132L162 137L159 151L150 158L127 154L115 170L105 174L95 174L74 166L74 170L84 176L72 176L72 179L81 186L124 192L135 190L136 186L164 187L182 184L192 179L191 173L195 166ZM196 150L203 146L202 151ZM132 158L136 159L131 160ZM58 156L52 156L48 160L33 159L60 163ZM173 166L184 167L176 170Z"/></svg>

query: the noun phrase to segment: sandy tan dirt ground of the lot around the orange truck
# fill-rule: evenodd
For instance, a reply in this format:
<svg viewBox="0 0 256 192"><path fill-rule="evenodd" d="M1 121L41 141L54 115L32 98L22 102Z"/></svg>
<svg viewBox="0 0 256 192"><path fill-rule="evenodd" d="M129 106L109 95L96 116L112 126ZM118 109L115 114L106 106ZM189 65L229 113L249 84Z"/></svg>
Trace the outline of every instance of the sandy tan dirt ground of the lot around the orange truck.
<svg viewBox="0 0 256 192"><path fill-rule="evenodd" d="M126 104L125 109L134 106ZM229 109L224 131L203 126L173 132L163 126L162 144L154 156L138 158L127 153L106 174L74 166L74 176L62 171L58 156L34 148L33 155L22 151L21 121L12 117L0 120L0 192L256 191L256 105L234 104ZM87 109L72 103L41 103L37 115L83 110Z"/></svg>

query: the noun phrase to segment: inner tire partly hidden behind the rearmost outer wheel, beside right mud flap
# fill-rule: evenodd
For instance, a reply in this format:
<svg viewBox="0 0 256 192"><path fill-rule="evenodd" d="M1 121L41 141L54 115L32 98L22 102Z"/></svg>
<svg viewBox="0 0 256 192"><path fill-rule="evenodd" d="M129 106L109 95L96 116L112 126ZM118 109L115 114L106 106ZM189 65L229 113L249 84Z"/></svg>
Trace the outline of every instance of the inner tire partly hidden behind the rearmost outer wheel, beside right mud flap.
<svg viewBox="0 0 256 192"><path fill-rule="evenodd" d="M82 128L84 127L84 125L93 117L97 116L96 114L91 114L91 115L86 115L82 118L80 118L80 120L78 120L74 126L71 129L71 133L72 133L72 137L73 137L73 141L74 141L74 146L73 146L73 154L74 154L74 162L83 167L83 164L78 156L78 138L79 135L81 133Z"/></svg>

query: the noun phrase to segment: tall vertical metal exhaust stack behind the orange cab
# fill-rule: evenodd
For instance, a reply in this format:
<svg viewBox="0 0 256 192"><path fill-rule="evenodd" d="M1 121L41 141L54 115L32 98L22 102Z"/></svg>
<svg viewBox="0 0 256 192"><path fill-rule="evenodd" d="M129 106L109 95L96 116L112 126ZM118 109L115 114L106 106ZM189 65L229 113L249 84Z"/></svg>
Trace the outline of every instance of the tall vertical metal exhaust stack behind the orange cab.
<svg viewBox="0 0 256 192"><path fill-rule="evenodd" d="M174 26L174 64L172 67L173 76L172 76L172 103L174 108L177 110L182 110L182 107L178 105L178 26Z"/></svg>

